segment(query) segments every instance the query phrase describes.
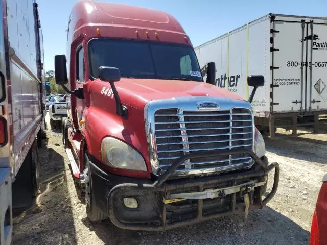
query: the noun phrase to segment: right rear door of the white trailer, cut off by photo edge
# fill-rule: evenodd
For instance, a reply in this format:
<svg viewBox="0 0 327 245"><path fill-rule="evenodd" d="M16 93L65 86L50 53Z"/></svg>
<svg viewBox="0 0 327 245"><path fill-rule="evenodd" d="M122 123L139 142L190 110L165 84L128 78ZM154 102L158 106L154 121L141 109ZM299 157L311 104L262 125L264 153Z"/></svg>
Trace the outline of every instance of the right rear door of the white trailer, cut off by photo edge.
<svg viewBox="0 0 327 245"><path fill-rule="evenodd" d="M327 24L308 23L307 107L327 110ZM313 37L313 38L311 38Z"/></svg>

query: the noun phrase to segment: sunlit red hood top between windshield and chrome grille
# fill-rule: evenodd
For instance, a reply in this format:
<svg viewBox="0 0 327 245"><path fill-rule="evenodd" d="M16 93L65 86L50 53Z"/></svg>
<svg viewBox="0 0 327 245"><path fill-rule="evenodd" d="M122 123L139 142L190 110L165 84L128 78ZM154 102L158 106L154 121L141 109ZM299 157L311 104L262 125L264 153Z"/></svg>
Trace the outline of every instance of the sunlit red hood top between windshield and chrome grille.
<svg viewBox="0 0 327 245"><path fill-rule="evenodd" d="M115 85L123 104L141 110L148 101L173 97L208 96L244 100L227 89L203 82L122 78Z"/></svg>

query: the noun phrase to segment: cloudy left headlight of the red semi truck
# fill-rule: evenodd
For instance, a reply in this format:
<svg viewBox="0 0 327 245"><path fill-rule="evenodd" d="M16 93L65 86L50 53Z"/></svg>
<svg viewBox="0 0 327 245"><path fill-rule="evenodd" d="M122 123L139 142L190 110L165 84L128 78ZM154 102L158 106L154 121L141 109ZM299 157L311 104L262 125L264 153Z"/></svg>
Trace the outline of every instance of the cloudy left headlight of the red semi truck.
<svg viewBox="0 0 327 245"><path fill-rule="evenodd" d="M102 162L108 166L147 171L141 154L128 144L115 138L106 137L101 142Z"/></svg>

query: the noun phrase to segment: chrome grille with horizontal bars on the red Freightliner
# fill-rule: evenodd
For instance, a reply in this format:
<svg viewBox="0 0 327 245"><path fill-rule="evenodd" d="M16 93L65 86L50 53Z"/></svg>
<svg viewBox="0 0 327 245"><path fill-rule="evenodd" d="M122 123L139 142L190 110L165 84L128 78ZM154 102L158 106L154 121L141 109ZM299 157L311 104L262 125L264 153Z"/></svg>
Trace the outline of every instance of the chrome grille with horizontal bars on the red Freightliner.
<svg viewBox="0 0 327 245"><path fill-rule="evenodd" d="M158 168L165 171L177 158L192 152L252 150L252 113L248 108L216 111L159 109L154 113L154 135ZM252 164L252 158L244 154L205 157L186 160L176 172L199 170L203 174Z"/></svg>

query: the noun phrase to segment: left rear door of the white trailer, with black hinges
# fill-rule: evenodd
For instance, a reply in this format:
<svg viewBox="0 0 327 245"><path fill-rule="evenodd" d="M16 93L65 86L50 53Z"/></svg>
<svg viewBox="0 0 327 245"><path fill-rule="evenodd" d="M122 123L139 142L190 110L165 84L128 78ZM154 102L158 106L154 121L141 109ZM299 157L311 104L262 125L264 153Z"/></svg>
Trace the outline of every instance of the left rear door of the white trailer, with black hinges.
<svg viewBox="0 0 327 245"><path fill-rule="evenodd" d="M273 17L271 17L273 19ZM304 107L305 24L274 20L271 22L271 81L273 112L298 112Z"/></svg>

